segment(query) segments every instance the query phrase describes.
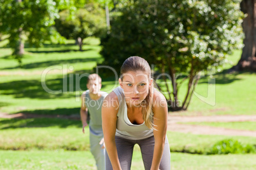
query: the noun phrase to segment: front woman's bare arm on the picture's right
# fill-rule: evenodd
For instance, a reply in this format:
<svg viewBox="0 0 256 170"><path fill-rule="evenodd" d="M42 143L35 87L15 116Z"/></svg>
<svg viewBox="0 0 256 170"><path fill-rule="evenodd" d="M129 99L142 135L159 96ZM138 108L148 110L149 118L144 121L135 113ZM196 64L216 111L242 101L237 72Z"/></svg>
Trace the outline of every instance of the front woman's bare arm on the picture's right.
<svg viewBox="0 0 256 170"><path fill-rule="evenodd" d="M153 124L155 125L153 135L155 137L155 147L153 150L151 170L158 170L166 139L168 110L166 98L159 91L155 91L154 93L153 104Z"/></svg>

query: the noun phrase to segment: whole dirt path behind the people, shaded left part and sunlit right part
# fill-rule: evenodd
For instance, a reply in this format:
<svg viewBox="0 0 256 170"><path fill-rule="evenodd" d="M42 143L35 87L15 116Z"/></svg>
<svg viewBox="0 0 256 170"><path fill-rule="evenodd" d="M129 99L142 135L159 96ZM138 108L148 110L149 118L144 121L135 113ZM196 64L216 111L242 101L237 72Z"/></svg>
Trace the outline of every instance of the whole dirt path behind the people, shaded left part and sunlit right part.
<svg viewBox="0 0 256 170"><path fill-rule="evenodd" d="M60 118L60 119L75 119L80 120L80 115L41 115L41 114L5 114L0 113L0 118ZM246 131L237 129L217 128L212 126L198 126L190 124L179 124L179 122L245 122L253 121L256 126L256 115L211 115L211 116L188 116L188 115L168 115L168 131L176 131L181 133L192 134L219 134L228 136L254 136L256 131Z"/></svg>

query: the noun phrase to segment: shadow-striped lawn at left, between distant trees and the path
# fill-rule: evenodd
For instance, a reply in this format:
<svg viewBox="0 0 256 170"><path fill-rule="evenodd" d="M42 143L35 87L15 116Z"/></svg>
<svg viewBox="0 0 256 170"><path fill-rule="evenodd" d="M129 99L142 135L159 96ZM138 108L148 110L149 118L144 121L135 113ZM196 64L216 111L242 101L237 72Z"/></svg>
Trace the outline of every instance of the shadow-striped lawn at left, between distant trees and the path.
<svg viewBox="0 0 256 170"><path fill-rule="evenodd" d="M80 95L86 90L84 74L92 73L97 62L101 62L97 39L87 40L84 51L77 51L78 46L69 41L66 46L45 44L38 51L25 48L23 67L11 58L11 50L0 51L0 112L15 114L33 112L41 114L78 114ZM45 74L47 68L52 68ZM73 69L73 70L72 70ZM42 85L45 82L45 87ZM103 90L115 84L111 80L103 82ZM46 89L62 90L64 93L47 93ZM65 93L66 91L66 93Z"/></svg>

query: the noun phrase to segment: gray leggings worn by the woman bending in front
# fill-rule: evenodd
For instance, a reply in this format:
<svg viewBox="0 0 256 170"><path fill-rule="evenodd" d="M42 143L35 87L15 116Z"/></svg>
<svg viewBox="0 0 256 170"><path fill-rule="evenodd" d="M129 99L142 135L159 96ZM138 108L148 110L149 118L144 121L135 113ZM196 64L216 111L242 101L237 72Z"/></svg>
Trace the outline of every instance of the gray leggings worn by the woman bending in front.
<svg viewBox="0 0 256 170"><path fill-rule="evenodd" d="M150 170L152 159L153 159L153 148L155 146L155 138L151 136L143 140L128 140L115 136L115 143L117 145L117 154L120 161L122 170L131 169L132 162L132 152L135 144L138 144L141 148L141 155L143 159L143 164L146 170ZM112 170L110 158L106 153L106 170ZM171 169L171 154L169 143L166 136L166 141L164 144L164 152L162 154L162 159L160 161L160 170L169 170Z"/></svg>

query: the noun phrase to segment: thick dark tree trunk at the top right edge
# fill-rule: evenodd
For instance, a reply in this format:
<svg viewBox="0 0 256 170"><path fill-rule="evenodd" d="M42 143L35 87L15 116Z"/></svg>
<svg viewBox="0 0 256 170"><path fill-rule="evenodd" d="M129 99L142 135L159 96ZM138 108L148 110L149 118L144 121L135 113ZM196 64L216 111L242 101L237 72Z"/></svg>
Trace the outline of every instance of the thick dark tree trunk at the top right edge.
<svg viewBox="0 0 256 170"><path fill-rule="evenodd" d="M241 11L248 15L242 23L243 32L245 32L245 39L243 40L245 46L238 64L231 70L256 71L256 0L243 0L240 6Z"/></svg>

